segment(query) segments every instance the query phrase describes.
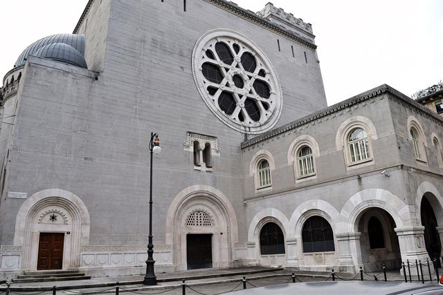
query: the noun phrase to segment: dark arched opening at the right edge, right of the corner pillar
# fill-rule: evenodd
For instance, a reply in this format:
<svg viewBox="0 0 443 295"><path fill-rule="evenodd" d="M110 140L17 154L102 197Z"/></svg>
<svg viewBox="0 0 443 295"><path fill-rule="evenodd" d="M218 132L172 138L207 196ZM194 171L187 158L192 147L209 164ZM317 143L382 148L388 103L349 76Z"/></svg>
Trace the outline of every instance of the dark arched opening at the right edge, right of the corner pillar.
<svg viewBox="0 0 443 295"><path fill-rule="evenodd" d="M434 207L431 202L438 203L438 200L432 193L425 193L420 204L420 216L422 219L422 225L424 226L424 243L426 251L428 251L428 255L432 260L437 258L436 261L440 264L442 243L440 241L440 234L437 231L438 222L433 209L440 208L440 206ZM436 205L438 206L437 203ZM440 267L440 265L438 265L438 267Z"/></svg>

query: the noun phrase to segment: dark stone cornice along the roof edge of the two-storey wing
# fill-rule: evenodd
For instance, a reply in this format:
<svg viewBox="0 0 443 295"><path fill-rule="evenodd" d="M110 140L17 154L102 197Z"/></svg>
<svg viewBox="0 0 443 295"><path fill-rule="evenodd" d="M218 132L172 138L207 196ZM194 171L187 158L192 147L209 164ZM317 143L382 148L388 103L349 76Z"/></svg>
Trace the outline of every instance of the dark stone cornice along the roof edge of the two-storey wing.
<svg viewBox="0 0 443 295"><path fill-rule="evenodd" d="M323 110L320 110L316 113L313 113L311 115L307 115L306 117L302 117L299 120L293 121L289 124L283 125L281 127L273 129L271 131L263 133L262 135L252 138L251 140L247 140L246 142L242 142L241 148L245 149L248 146L253 146L259 142L269 140L272 137L278 136L282 133L286 133L287 131L291 131L292 129L296 129L297 127L303 126L305 124L308 124L310 122L318 120L318 119L325 117L327 115L331 115L332 113L336 113L338 111L341 111L344 108L354 106L356 104L359 104L360 102L370 100L374 97L378 97L378 96L383 95L385 93L390 93L394 97L397 97L401 101L406 102L407 104L410 104L410 106L413 106L414 108L418 109L422 113L426 113L426 115L432 117L433 119L435 119L438 122L440 122L441 124L443 124L443 117L441 117L440 115L437 115L437 113L434 113L433 111L426 108L425 106L422 106L422 104L415 102L415 100L411 99L410 97L407 97L403 93L395 90L394 88L388 86L387 84L383 84L379 87L371 89L370 91L366 91L364 93L361 93L359 95L351 97L350 99L343 100L343 102L338 102L338 104L334 104L332 106L324 108Z"/></svg>

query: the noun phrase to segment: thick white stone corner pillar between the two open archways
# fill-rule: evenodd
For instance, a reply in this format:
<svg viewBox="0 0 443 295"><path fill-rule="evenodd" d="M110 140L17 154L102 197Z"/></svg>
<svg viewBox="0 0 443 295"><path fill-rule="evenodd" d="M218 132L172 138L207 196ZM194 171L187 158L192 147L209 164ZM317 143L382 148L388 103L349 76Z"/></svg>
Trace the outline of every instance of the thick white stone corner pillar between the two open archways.
<svg viewBox="0 0 443 295"><path fill-rule="evenodd" d="M426 258L429 259L428 251L424 245L424 227L412 226L412 227L396 227L395 232L399 238L399 246L401 252L401 261L406 264L409 260L411 264L411 274L417 274L417 268L415 267L415 260L426 263ZM413 264L413 265L412 265ZM423 273L428 274L428 268L422 267ZM403 269L400 269L403 274Z"/></svg>

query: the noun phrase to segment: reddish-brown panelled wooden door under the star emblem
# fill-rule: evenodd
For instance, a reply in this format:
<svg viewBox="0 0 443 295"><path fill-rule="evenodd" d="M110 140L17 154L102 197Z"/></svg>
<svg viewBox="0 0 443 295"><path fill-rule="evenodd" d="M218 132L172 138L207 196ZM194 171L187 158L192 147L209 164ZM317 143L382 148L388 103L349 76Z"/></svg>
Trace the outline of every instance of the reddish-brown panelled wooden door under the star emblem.
<svg viewBox="0 0 443 295"><path fill-rule="evenodd" d="M37 269L62 269L64 234L40 233Z"/></svg>

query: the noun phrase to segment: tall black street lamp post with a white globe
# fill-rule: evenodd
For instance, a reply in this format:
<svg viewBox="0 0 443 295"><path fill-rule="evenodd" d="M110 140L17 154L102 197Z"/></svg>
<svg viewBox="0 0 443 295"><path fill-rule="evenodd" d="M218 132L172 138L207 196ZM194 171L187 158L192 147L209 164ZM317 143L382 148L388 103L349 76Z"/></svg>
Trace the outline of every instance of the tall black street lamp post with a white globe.
<svg viewBox="0 0 443 295"><path fill-rule="evenodd" d="M148 237L147 244L147 260L146 260L146 275L145 280L143 280L143 285L157 285L157 278L154 272L155 260L152 258L154 254L154 244L152 244L152 154L160 153L160 140L157 133L151 132L150 140L150 152L151 152L151 163L150 163L150 236Z"/></svg>

